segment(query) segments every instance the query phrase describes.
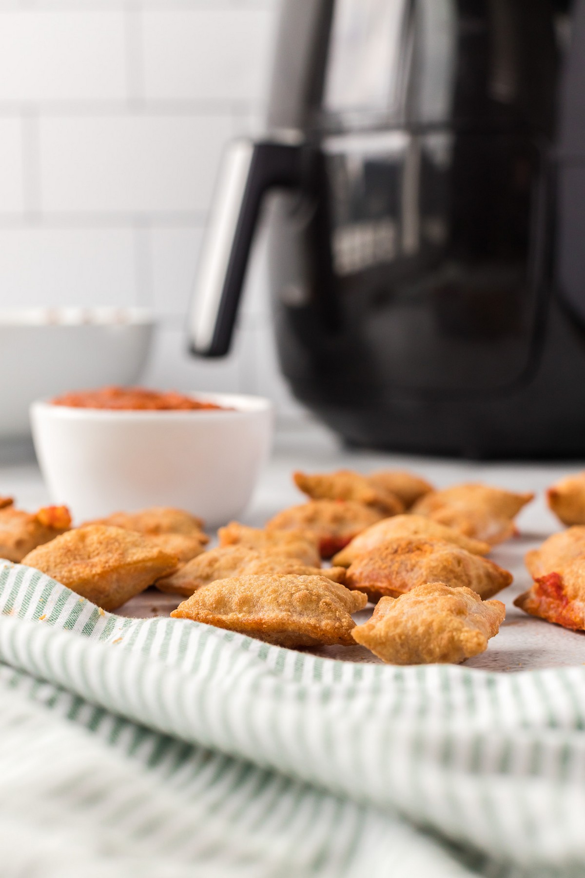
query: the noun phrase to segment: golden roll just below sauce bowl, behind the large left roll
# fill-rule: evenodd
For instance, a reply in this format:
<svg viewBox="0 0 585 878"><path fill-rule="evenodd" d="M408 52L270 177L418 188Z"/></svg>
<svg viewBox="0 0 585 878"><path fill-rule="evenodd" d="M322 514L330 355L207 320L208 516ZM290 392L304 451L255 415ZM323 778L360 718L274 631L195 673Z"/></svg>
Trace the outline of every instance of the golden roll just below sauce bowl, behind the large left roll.
<svg viewBox="0 0 585 878"><path fill-rule="evenodd" d="M135 530L153 540L163 551L182 562L196 558L209 543L203 533L203 521L182 509L153 506L140 512L115 512L88 524L105 524L112 528Z"/></svg>

